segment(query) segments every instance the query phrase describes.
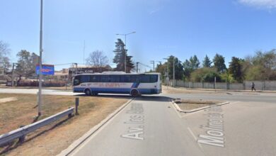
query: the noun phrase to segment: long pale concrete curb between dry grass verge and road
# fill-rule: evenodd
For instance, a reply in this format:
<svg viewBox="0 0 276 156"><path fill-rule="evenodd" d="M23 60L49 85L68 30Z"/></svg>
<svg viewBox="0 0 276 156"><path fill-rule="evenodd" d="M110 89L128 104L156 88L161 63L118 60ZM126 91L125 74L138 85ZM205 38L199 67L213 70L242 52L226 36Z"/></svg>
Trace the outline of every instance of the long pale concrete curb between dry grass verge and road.
<svg viewBox="0 0 276 156"><path fill-rule="evenodd" d="M76 148L79 147L79 145L81 145L81 143L84 143L89 137L91 137L91 135L96 133L96 131L99 130L103 125L105 125L105 123L108 123L108 121L110 121L111 118L117 115L117 113L120 113L120 111L122 111L122 109L125 108L128 104L130 104L130 102L132 102L134 99L135 98L130 99L125 104L120 106L120 108L117 108L113 113L110 113L110 115L108 115L107 118L105 118L103 121L100 121L100 123L88 130L88 132L82 135L81 138L75 140L73 143L71 143L71 145L69 145L69 147L67 147L67 149L62 150L62 152L60 152L57 156L70 155L71 152L76 150Z"/></svg>

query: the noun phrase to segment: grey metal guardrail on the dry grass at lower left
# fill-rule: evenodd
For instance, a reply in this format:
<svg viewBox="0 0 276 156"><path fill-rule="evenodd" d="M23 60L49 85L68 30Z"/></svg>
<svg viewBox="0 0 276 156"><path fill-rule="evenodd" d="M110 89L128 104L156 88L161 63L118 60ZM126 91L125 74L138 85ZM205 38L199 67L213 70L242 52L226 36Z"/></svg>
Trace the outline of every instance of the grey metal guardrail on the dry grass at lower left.
<svg viewBox="0 0 276 156"><path fill-rule="evenodd" d="M71 107L65 111L59 112L54 116L49 116L47 118L44 118L41 121L31 123L28 126L24 126L22 128L18 128L11 132L0 135L0 146L5 145L6 143L10 143L12 140L15 140L17 138L19 138L20 141L23 141L25 140L25 135L27 135L28 133L31 133L37 130L38 128L41 128L42 126L46 126L54 121L57 121L59 120L59 118L62 118L64 116L71 116L72 113L74 113L74 107Z"/></svg>

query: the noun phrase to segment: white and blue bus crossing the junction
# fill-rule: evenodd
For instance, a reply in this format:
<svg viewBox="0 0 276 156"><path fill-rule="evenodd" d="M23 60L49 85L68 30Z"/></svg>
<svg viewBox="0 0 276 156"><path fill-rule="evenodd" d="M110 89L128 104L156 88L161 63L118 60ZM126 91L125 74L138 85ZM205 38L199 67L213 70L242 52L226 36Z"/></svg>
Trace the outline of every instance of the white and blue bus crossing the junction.
<svg viewBox="0 0 276 156"><path fill-rule="evenodd" d="M161 93L161 74L126 74L125 72L103 72L97 74L78 74L73 80L73 91L86 95L98 93L142 94Z"/></svg>

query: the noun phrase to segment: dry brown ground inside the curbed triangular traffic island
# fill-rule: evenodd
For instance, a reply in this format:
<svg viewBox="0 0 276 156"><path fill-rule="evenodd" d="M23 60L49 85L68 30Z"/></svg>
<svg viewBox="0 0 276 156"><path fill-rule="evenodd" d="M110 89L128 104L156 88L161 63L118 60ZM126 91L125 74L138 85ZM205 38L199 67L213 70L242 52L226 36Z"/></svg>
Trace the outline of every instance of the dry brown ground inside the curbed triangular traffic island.
<svg viewBox="0 0 276 156"><path fill-rule="evenodd" d="M180 100L177 102L177 105L182 111L190 111L195 108L213 106L220 103L222 103L222 101Z"/></svg>

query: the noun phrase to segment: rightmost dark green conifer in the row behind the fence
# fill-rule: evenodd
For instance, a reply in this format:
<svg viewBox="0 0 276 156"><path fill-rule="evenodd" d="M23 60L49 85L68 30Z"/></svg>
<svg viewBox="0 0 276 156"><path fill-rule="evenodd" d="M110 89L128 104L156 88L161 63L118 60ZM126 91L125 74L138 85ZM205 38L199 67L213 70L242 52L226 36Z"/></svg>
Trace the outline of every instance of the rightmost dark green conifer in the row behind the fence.
<svg viewBox="0 0 276 156"><path fill-rule="evenodd" d="M229 62L229 74L231 74L237 82L243 82L242 65L243 60L238 57L232 57Z"/></svg>

